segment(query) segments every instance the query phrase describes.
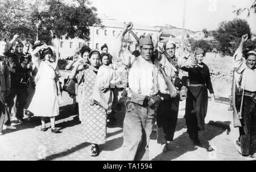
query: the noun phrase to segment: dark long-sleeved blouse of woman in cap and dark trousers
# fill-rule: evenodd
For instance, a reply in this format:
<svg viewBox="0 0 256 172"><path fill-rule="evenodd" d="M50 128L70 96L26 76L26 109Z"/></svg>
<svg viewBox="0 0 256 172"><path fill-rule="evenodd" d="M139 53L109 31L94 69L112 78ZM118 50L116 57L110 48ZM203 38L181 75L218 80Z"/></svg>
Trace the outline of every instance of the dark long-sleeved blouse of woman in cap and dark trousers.
<svg viewBox="0 0 256 172"><path fill-rule="evenodd" d="M207 87L210 94L214 93L212 88L212 82L210 81L210 72L207 65L203 64L203 68L199 66L194 68L181 68L185 72L188 72L188 78L191 84L203 84Z"/></svg>

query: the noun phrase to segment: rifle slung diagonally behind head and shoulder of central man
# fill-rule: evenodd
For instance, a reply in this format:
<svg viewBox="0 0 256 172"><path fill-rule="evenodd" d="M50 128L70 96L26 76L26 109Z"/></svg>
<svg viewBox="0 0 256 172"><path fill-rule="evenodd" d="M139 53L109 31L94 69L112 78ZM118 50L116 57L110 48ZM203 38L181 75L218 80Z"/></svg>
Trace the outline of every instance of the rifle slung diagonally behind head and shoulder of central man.
<svg viewBox="0 0 256 172"><path fill-rule="evenodd" d="M133 35L135 40L137 40L137 42L139 43L138 36L132 30L130 30L129 32L131 33L131 35ZM173 91L176 92L177 90L176 90L176 87L174 86L174 83L172 83L171 79L167 76L166 72L162 68L162 65L156 58L154 60L154 64L155 64L156 68L158 68L160 74L162 74L162 76L164 78L164 82L166 82L166 86L168 88L169 93L172 94Z"/></svg>

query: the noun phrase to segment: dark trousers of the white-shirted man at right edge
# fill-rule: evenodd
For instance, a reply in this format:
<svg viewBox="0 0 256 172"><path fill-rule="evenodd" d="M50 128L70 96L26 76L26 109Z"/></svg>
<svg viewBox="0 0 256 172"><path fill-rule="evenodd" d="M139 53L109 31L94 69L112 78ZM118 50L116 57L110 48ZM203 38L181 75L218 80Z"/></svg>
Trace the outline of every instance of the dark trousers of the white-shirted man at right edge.
<svg viewBox="0 0 256 172"><path fill-rule="evenodd" d="M241 97L238 97L238 102L241 102ZM237 108L240 109L240 106ZM239 127L241 153L242 155L249 155L250 150L254 150L254 152L256 150L256 110L251 97L243 97L241 122L242 127Z"/></svg>

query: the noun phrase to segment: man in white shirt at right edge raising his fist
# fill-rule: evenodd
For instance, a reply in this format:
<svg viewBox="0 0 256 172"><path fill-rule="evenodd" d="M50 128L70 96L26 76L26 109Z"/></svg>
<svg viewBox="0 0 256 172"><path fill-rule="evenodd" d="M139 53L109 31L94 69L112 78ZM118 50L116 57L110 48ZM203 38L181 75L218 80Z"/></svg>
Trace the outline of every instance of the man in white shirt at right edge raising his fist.
<svg viewBox="0 0 256 172"><path fill-rule="evenodd" d="M242 89L242 95L237 95L236 106L240 110L242 102L242 127L239 128L240 138L237 145L242 156L254 154L251 150L256 148L256 52L249 51L246 57L242 57L242 48L248 39L248 35L242 36L240 46L234 54L234 68L237 87ZM242 100L243 97L243 100ZM252 149L253 148L253 149Z"/></svg>

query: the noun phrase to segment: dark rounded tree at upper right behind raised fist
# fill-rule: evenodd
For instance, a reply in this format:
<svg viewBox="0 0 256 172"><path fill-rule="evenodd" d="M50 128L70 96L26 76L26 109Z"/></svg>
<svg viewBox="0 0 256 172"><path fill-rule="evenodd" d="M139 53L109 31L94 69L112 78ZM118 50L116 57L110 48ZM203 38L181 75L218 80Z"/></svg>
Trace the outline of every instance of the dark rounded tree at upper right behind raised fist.
<svg viewBox="0 0 256 172"><path fill-rule="evenodd" d="M241 36L245 33L248 33L250 39L251 29L246 20L234 19L229 22L221 22L216 32L213 32L214 38L219 42L217 49L224 54L233 55L240 43Z"/></svg>

